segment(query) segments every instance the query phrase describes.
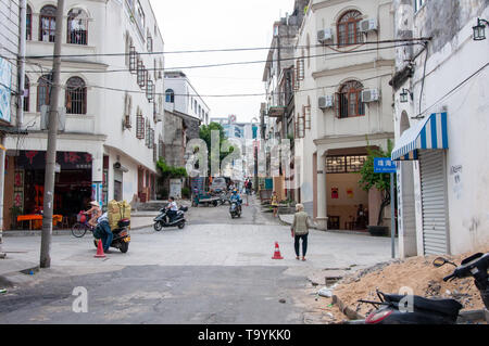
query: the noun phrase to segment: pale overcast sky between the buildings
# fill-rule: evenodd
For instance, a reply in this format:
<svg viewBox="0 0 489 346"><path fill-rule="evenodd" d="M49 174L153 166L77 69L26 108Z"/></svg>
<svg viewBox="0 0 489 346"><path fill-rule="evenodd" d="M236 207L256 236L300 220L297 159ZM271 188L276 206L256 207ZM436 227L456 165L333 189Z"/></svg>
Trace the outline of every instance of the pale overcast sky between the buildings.
<svg viewBox="0 0 489 346"><path fill-rule="evenodd" d="M165 51L267 48L273 23L293 11L294 0L150 0ZM264 61L268 51L166 54L165 68ZM181 68L201 95L264 93L264 63ZM211 117L236 114L238 121L260 115L265 97L204 98Z"/></svg>

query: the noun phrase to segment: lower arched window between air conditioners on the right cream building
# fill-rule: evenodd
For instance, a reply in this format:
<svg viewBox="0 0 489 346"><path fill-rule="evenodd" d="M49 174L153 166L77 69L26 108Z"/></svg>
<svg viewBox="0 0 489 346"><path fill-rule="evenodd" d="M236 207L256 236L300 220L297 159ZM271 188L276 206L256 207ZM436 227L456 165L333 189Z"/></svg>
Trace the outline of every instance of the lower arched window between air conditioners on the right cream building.
<svg viewBox="0 0 489 346"><path fill-rule="evenodd" d="M356 80L343 84L337 93L337 116L347 118L365 115L365 105L362 102L363 86Z"/></svg>

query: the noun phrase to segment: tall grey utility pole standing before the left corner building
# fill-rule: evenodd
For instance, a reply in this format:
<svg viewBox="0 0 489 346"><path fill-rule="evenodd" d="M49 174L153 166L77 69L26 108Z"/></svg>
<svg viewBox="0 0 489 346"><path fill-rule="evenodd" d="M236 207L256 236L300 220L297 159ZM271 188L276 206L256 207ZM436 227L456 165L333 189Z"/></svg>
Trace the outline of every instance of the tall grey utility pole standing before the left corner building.
<svg viewBox="0 0 489 346"><path fill-rule="evenodd" d="M42 236L40 248L40 268L51 267L52 214L54 208L54 175L57 165L57 136L59 120L59 100L61 93L60 67L63 34L64 0L58 0L54 56L52 65L52 86L49 103L48 151L46 156L45 203L42 216Z"/></svg>

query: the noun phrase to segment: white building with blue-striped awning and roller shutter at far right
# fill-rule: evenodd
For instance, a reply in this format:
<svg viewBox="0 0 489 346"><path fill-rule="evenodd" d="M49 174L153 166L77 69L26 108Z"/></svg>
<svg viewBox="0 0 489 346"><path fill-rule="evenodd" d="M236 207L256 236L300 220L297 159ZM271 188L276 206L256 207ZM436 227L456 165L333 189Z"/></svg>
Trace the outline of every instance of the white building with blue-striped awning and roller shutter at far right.
<svg viewBox="0 0 489 346"><path fill-rule="evenodd" d="M402 257L489 240L489 3L394 0L394 98Z"/></svg>

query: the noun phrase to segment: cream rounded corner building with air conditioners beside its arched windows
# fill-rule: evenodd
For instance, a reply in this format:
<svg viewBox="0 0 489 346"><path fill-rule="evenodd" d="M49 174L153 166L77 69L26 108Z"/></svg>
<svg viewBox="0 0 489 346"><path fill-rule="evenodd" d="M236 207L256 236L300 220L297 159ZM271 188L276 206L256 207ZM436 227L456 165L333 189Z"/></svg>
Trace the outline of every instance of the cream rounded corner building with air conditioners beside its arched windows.
<svg viewBox="0 0 489 346"><path fill-rule="evenodd" d="M310 1L297 43L296 179L319 228L376 225L359 184L367 146L393 140L391 1ZM372 219L364 217L368 214ZM362 216L362 218L359 218Z"/></svg>

